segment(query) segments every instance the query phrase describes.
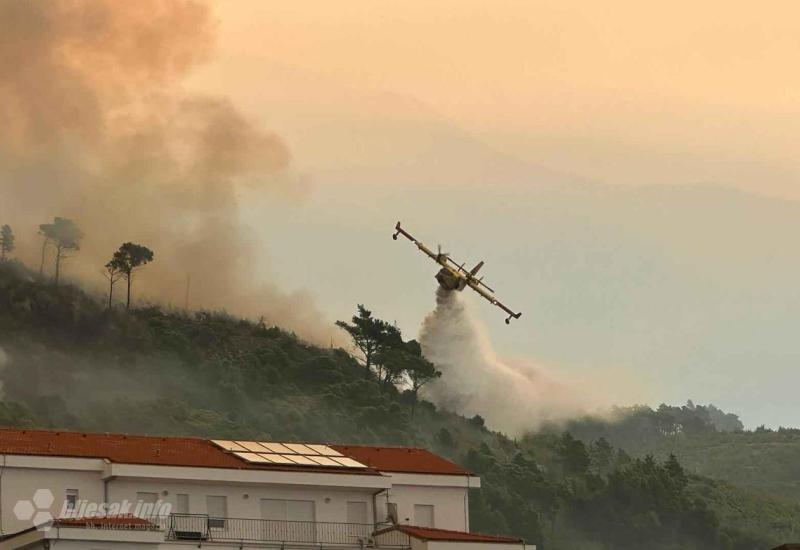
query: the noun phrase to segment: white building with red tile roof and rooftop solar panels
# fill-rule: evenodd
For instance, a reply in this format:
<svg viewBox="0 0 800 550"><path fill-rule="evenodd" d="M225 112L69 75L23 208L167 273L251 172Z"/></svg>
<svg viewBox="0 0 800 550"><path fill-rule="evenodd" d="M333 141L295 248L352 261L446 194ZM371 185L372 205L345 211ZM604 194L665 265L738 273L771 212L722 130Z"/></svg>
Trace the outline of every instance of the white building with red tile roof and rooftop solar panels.
<svg viewBox="0 0 800 550"><path fill-rule="evenodd" d="M424 449L0 429L0 550L524 545L469 532L478 487Z"/></svg>

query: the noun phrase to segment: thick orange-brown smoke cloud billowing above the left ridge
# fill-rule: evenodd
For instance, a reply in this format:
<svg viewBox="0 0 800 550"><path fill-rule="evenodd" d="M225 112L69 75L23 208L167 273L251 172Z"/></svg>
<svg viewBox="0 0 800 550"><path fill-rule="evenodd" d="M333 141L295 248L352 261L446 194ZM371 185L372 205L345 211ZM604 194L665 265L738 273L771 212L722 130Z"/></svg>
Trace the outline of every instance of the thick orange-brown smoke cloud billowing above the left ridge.
<svg viewBox="0 0 800 550"><path fill-rule="evenodd" d="M263 251L239 221L249 194L302 194L285 144L228 99L181 88L214 36L192 0L0 3L0 219L29 265L38 224L68 217L86 234L69 276L101 284L112 252L138 242L155 251L138 296L183 305L191 276L192 307L327 343L308 297L255 272Z"/></svg>

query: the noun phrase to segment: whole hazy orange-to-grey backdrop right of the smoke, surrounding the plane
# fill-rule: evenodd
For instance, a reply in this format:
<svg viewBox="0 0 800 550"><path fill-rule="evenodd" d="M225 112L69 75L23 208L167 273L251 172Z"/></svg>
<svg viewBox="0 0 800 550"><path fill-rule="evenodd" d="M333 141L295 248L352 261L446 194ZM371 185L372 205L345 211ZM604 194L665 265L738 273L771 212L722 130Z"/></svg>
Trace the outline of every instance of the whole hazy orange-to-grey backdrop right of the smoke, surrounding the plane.
<svg viewBox="0 0 800 550"><path fill-rule="evenodd" d="M311 191L246 200L284 286L414 334L435 266L402 219L525 314L498 353L621 404L800 425L796 2L215 4L186 86L232 96Z"/></svg>

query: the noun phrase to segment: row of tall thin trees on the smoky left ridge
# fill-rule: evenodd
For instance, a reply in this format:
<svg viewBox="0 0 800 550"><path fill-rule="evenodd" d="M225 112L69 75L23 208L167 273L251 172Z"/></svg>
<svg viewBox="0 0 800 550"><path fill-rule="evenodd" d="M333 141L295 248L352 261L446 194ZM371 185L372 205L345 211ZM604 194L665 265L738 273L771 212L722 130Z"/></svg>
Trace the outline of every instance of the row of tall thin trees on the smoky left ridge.
<svg viewBox="0 0 800 550"><path fill-rule="evenodd" d="M42 237L41 262L39 276L44 275L44 265L48 251L53 252L53 284L58 286L61 280L61 268L65 260L77 253L81 248L84 233L73 220L68 218L53 218L52 223L39 225L39 235ZM16 249L14 231L9 225L0 227L0 261L5 261L7 255ZM103 276L108 281L108 307L112 306L114 298L114 285L120 280L127 282L126 309L131 306L131 282L133 273L153 261L153 251L131 242L123 243L114 252L108 263L105 264Z"/></svg>

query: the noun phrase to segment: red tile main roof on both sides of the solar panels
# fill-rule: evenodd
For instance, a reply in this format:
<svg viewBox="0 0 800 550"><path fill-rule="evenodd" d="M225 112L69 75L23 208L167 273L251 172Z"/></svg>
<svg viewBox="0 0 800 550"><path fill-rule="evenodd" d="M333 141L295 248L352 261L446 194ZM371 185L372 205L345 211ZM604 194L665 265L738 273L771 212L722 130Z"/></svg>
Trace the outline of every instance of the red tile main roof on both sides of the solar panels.
<svg viewBox="0 0 800 550"><path fill-rule="evenodd" d="M18 455L105 458L121 464L193 466L253 470L331 471L377 474L378 471L467 475L457 464L424 449L331 445L365 464L367 470L253 464L227 453L207 439L125 434L92 434L50 430L0 428L0 453Z"/></svg>

